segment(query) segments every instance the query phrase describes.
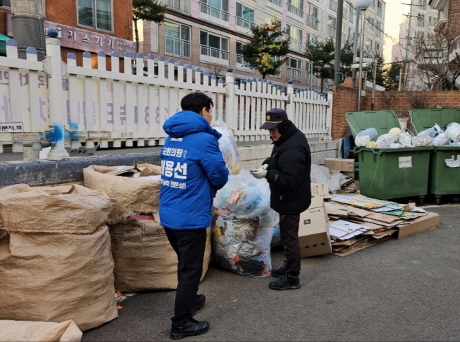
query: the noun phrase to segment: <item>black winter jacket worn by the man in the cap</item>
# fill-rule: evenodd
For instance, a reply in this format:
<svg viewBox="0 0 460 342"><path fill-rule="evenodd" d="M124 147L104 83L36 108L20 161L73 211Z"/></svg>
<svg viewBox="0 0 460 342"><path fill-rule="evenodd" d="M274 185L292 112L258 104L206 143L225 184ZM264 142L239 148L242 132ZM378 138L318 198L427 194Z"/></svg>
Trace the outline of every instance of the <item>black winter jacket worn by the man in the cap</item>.
<svg viewBox="0 0 460 342"><path fill-rule="evenodd" d="M279 214L304 212L311 203L310 169L312 157L305 135L289 122L286 133L273 141L266 179L270 184L270 206Z"/></svg>

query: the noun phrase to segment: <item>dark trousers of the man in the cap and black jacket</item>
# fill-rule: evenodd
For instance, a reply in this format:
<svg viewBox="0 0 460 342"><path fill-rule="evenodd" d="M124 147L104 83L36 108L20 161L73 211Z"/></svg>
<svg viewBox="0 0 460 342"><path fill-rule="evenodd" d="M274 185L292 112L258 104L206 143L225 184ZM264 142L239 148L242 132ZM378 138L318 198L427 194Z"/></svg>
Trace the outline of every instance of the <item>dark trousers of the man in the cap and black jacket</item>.
<svg viewBox="0 0 460 342"><path fill-rule="evenodd" d="M286 277L288 280L297 280L300 274L299 220L299 214L279 214L279 233L286 257Z"/></svg>

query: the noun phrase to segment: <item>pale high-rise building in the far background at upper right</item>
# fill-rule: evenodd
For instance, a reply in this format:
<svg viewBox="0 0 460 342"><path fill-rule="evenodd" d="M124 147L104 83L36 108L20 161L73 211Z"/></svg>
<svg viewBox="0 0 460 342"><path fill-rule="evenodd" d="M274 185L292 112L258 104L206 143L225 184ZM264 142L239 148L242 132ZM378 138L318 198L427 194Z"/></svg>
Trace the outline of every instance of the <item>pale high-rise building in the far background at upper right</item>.
<svg viewBox="0 0 460 342"><path fill-rule="evenodd" d="M417 45L434 34L438 14L437 10L429 7L428 0L412 0L406 7L405 17L402 16L404 21L400 24L399 42L393 45L391 61L407 61L402 71L402 89L426 90L429 86L424 82L424 74L417 68L415 55L419 49Z"/></svg>

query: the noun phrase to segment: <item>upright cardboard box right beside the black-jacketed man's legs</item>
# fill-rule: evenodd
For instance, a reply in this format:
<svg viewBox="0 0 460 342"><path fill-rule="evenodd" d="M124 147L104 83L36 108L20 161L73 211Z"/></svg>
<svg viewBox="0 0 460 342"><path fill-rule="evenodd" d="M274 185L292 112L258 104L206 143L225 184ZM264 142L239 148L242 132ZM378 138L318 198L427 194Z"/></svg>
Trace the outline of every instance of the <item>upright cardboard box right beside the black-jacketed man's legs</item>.
<svg viewBox="0 0 460 342"><path fill-rule="evenodd" d="M323 198L313 197L310 207L300 214L299 244L301 258L332 253Z"/></svg>

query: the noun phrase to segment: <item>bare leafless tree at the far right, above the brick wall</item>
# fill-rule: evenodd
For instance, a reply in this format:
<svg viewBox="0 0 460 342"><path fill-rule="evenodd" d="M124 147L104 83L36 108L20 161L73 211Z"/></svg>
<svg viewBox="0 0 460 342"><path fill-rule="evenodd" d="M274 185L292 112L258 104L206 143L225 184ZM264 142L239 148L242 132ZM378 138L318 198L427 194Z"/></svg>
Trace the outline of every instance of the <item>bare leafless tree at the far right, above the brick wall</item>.
<svg viewBox="0 0 460 342"><path fill-rule="evenodd" d="M428 89L459 89L456 84L460 76L460 27L448 23L436 34L420 36L415 48L414 60L420 78Z"/></svg>

